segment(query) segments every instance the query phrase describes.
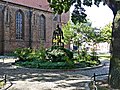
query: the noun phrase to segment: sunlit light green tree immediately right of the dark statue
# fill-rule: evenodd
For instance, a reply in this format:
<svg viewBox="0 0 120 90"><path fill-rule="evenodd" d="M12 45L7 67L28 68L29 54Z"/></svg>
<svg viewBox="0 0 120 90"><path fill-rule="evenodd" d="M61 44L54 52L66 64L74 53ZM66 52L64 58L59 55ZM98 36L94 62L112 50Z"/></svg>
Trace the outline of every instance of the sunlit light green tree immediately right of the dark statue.
<svg viewBox="0 0 120 90"><path fill-rule="evenodd" d="M74 42L77 46L80 46L83 42L91 42L94 37L94 28L91 27L89 22L71 24L68 22L62 27L64 33L64 42L69 44L70 41Z"/></svg>

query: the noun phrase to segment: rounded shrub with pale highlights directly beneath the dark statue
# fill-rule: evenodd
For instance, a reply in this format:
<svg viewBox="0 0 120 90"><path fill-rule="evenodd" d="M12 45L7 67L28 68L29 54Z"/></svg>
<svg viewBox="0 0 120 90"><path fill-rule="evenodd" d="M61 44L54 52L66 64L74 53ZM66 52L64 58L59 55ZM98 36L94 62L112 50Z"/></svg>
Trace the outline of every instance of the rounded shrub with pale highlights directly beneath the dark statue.
<svg viewBox="0 0 120 90"><path fill-rule="evenodd" d="M73 53L59 46L52 46L46 50L47 58L52 62L66 62L73 59Z"/></svg>

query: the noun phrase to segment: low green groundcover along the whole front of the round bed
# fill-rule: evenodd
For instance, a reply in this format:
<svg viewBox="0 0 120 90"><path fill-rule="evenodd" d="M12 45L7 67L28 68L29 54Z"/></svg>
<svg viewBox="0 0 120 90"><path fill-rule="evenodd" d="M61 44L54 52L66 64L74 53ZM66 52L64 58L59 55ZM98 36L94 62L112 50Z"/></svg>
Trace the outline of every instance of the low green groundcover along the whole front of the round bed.
<svg viewBox="0 0 120 90"><path fill-rule="evenodd" d="M93 67L99 65L97 61L80 61L79 63L74 63L72 61L66 62L50 62L40 60L34 61L18 61L14 63L17 66L27 67L27 68L38 68L38 69L74 69L74 68L84 68Z"/></svg>

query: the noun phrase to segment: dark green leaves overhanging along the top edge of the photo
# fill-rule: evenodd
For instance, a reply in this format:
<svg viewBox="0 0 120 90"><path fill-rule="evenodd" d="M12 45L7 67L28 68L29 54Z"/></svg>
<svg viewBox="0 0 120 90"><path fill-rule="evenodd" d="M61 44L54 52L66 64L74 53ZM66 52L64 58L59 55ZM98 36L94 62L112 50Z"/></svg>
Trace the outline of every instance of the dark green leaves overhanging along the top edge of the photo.
<svg viewBox="0 0 120 90"><path fill-rule="evenodd" d="M50 3L50 7L54 11L54 13L62 14L64 12L69 11L72 5L75 6L72 13L72 21L73 23L86 22L86 13L83 6L91 7L93 4L99 6L100 2L103 1L103 4L107 4L110 9L113 11L113 14L116 13L115 10L115 0L48 0Z"/></svg>

